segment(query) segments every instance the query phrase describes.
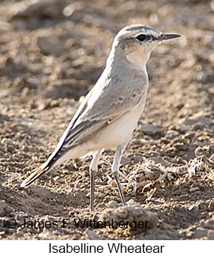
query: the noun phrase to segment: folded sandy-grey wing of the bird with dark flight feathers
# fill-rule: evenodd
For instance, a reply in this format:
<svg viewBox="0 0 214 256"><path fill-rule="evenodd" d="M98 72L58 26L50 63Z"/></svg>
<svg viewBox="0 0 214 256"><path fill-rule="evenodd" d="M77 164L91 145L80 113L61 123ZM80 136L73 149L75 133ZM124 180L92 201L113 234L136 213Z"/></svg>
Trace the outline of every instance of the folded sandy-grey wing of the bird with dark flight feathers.
<svg viewBox="0 0 214 256"><path fill-rule="evenodd" d="M66 128L53 159L57 160L70 148L88 140L100 129L135 108L147 91L147 81L142 78L145 79L135 75L128 84L119 76L111 79L101 76Z"/></svg>

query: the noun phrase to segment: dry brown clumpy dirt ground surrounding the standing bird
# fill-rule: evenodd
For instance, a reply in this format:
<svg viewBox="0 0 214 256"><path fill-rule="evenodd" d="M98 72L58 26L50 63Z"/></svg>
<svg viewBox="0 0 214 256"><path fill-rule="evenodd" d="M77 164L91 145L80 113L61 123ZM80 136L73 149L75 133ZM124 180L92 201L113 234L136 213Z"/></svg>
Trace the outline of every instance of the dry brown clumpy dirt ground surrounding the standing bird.
<svg viewBox="0 0 214 256"><path fill-rule="evenodd" d="M194 159L197 147L214 160L214 4L41 2L0 1L2 239L214 239L212 165L171 174ZM127 201L153 212L158 221L140 233L76 228L74 219L98 219L120 204L107 163L114 151L104 152L99 162L94 213L88 211L90 157L58 166L28 189L19 184L54 150L81 96L102 73L115 33L134 23L182 35L152 52L145 112L121 166ZM69 218L70 224L19 227L24 218L51 224ZM8 220L15 220L15 227L6 227Z"/></svg>

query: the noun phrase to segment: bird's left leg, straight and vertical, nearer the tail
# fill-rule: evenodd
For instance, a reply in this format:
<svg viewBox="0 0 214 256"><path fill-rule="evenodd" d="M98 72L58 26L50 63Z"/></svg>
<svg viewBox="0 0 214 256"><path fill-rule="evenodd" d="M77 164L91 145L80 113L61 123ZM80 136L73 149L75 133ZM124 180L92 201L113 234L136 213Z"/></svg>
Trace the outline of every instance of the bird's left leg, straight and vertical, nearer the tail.
<svg viewBox="0 0 214 256"><path fill-rule="evenodd" d="M91 212L94 210L94 187L95 187L95 174L97 173L98 166L97 162L99 161L99 157L102 150L96 151L96 153L93 155L92 162L89 166L89 172L90 172L90 189L91 189L91 195L90 195L90 209Z"/></svg>

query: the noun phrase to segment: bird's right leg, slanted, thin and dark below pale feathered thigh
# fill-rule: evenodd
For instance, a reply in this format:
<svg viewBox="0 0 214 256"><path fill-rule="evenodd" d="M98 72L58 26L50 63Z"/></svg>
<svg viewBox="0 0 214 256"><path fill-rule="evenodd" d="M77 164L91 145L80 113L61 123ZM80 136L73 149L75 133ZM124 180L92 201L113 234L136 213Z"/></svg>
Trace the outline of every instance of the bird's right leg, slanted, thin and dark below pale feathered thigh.
<svg viewBox="0 0 214 256"><path fill-rule="evenodd" d="M126 199L125 199L124 194L122 192L122 186L120 185L120 182L118 180L118 170L119 170L120 162L121 162L121 159L122 159L122 154L125 151L127 144L128 144L128 142L123 143L122 145L119 145L117 147L116 153L115 153L115 159L114 159L113 165L111 167L112 173L115 177L115 181L118 185L118 190L119 190L120 197L121 197L123 205L126 205Z"/></svg>

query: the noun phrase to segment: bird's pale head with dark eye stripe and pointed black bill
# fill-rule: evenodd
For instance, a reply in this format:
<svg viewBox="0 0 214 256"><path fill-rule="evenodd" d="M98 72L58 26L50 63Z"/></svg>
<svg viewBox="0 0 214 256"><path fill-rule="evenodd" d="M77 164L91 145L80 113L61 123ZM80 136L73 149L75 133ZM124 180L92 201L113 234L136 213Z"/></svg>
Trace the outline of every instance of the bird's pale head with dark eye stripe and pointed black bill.
<svg viewBox="0 0 214 256"><path fill-rule="evenodd" d="M115 36L112 52L114 55L125 55L134 67L143 69L157 44L178 36L180 35L163 33L145 25L130 25Z"/></svg>

